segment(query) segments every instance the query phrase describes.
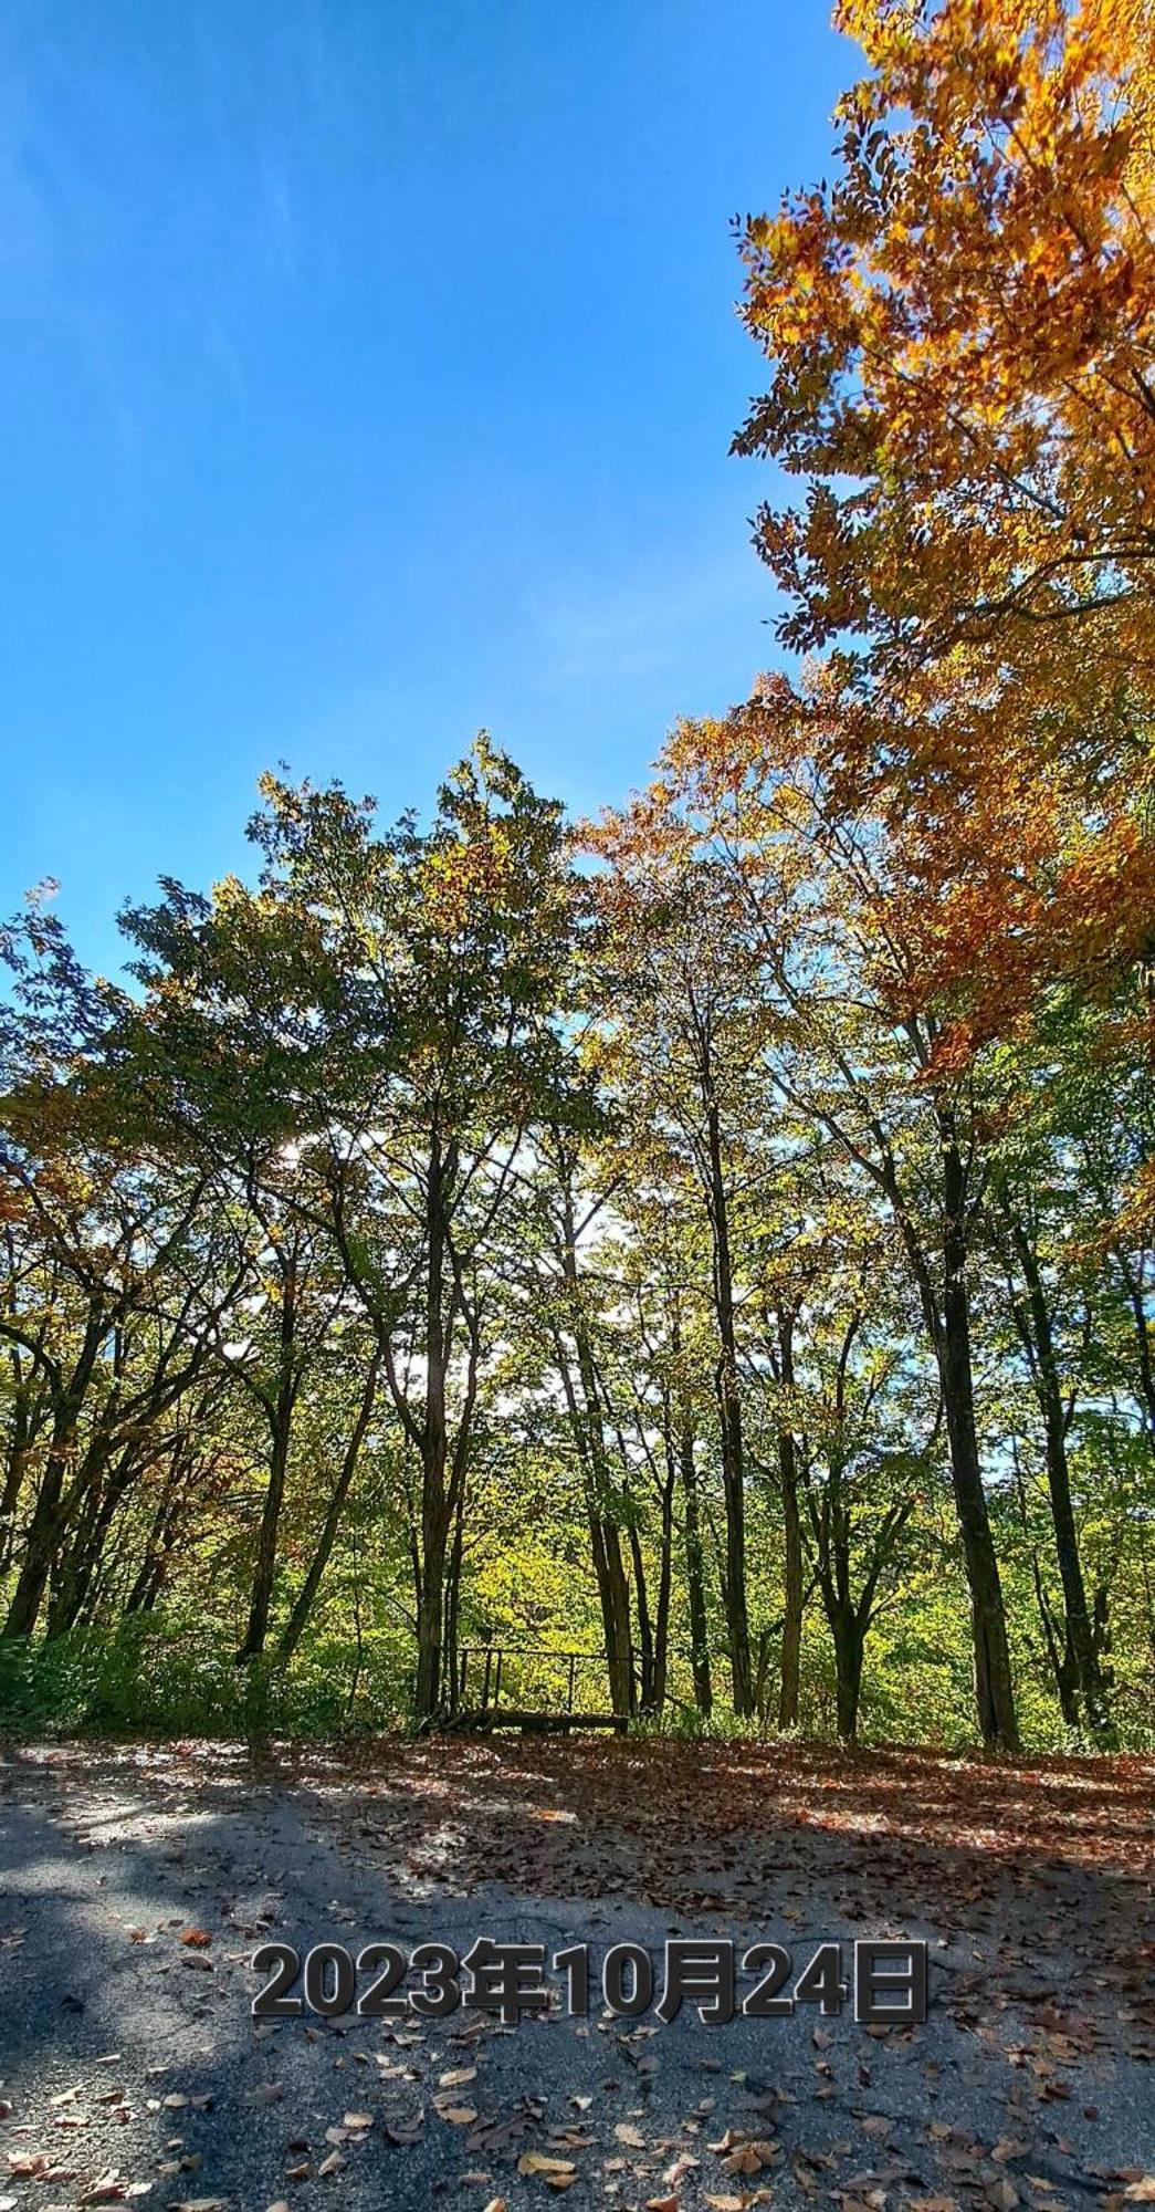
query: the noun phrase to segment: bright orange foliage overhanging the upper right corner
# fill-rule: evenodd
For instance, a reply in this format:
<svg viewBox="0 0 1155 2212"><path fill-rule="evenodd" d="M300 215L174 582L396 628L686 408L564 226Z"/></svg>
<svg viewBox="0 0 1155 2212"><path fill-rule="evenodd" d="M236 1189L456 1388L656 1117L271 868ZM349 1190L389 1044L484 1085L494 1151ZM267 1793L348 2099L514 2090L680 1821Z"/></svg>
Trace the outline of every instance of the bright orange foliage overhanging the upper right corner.
<svg viewBox="0 0 1155 2212"><path fill-rule="evenodd" d="M1151 0L845 0L832 184L741 230L757 542L839 772L951 878L982 1033L1146 967L1155 907ZM976 940L982 964L976 969Z"/></svg>

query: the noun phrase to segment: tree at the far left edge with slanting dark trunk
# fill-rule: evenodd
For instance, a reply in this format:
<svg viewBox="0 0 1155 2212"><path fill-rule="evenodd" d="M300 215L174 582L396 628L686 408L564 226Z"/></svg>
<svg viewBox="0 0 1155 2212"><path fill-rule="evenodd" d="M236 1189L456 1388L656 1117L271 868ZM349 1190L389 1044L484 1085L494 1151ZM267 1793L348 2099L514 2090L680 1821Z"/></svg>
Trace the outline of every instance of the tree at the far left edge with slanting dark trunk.
<svg viewBox="0 0 1155 2212"><path fill-rule="evenodd" d="M0 1020L9 1553L35 1478L2 1635L29 1637L53 1577L51 1630L75 1619L115 1504L164 1455L157 1425L201 1378L184 1270L204 1186L137 1148L91 1086L119 1000L82 973L55 916L33 900L0 949L13 973Z"/></svg>

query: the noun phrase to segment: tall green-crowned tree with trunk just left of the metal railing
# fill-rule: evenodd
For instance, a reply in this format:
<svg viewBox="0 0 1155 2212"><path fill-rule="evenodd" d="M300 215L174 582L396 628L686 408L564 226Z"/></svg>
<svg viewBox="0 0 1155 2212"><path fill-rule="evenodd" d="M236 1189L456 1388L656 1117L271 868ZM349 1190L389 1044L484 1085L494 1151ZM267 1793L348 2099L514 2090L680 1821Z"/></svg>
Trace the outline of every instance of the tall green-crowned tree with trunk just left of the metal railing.
<svg viewBox="0 0 1155 2212"><path fill-rule="evenodd" d="M560 1084L573 896L555 801L478 739L414 816L376 832L341 790L266 781L263 896L321 936L312 1046L325 1119L316 1217L374 1332L420 1467L416 1712L445 1688L445 1588L513 1168ZM314 1095L319 1095L314 1091Z"/></svg>

